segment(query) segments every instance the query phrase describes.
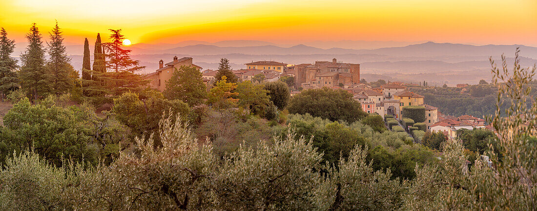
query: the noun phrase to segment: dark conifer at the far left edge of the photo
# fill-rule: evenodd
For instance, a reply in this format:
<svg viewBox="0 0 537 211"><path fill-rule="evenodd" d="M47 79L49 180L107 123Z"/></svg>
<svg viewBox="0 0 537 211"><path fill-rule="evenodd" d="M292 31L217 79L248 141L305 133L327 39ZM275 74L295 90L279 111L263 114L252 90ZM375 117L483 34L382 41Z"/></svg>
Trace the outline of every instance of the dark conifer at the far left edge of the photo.
<svg viewBox="0 0 537 211"><path fill-rule="evenodd" d="M19 88L19 79L15 69L17 68L17 60L11 58L15 41L8 39L8 33L4 28L0 30L0 97Z"/></svg>

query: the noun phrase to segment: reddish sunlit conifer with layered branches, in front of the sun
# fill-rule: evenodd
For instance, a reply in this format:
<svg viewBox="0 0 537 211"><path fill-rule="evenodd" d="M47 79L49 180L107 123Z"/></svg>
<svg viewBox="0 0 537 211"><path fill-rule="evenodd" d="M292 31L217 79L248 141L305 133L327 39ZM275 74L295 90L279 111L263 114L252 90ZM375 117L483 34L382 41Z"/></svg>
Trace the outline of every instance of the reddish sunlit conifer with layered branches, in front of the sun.
<svg viewBox="0 0 537 211"><path fill-rule="evenodd" d="M106 73L105 83L114 96L126 92L140 92L144 85L148 83L144 80L139 72L146 68L138 66L140 61L130 58L130 51L123 49L123 40L125 36L121 34L121 29L109 29L110 42L103 43L106 56Z"/></svg>

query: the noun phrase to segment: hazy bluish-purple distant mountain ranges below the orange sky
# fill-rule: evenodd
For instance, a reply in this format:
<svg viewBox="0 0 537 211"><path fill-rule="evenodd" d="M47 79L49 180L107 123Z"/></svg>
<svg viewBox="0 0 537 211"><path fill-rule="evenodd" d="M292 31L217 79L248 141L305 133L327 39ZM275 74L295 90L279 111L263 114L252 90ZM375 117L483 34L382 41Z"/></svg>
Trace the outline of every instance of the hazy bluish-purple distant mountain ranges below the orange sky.
<svg viewBox="0 0 537 211"><path fill-rule="evenodd" d="M90 40L90 43L93 42ZM360 41L354 42L355 44L360 43ZM324 44L329 43L325 42ZM387 44L387 42L380 44ZM335 46L338 45L335 44ZM83 46L68 43L66 47L68 54L72 55L72 65L77 70L81 69ZM216 69L220 58L228 58L233 69L244 68L244 63L252 61L300 64L331 61L332 58L337 58L340 62L361 64L361 72L364 73L364 76L374 73L369 74L369 76L374 76L370 78L372 80L386 78L423 81L425 79L442 85L443 83L471 84L481 78L490 78L488 58L492 56L494 59L499 59L500 55L505 54L506 57L511 58L509 62L512 64L512 57L517 47L522 56L521 65L532 66L537 63L537 48L522 45L475 46L424 42L402 47L350 49L318 48L305 44L286 47L264 41L230 40L214 43L205 41L184 41L175 44L138 43L127 48L132 50L134 59L140 60L140 64L146 66L144 72L153 72L157 69L160 59L169 62L173 56L193 57L194 63L204 69ZM20 55L24 48L24 43L17 43L17 49L13 56ZM90 47L90 51L93 51L93 47Z"/></svg>

